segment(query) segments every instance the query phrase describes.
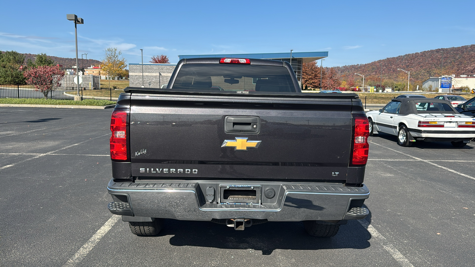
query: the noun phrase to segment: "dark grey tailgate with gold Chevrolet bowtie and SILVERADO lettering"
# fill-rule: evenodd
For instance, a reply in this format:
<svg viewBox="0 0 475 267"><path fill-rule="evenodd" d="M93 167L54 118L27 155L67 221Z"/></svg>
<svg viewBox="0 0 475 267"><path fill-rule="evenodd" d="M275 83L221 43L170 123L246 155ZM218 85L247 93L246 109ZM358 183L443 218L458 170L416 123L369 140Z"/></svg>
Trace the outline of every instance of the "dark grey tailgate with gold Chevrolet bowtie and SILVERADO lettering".
<svg viewBox="0 0 475 267"><path fill-rule="evenodd" d="M132 175L345 181L351 110L352 99L132 94ZM226 133L228 116L257 118L258 133Z"/></svg>

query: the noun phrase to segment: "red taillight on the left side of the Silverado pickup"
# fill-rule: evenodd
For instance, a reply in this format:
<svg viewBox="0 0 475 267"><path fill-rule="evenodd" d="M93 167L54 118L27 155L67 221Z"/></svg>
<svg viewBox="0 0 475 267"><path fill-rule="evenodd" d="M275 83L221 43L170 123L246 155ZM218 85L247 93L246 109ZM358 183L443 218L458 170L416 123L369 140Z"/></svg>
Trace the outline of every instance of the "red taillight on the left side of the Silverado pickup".
<svg viewBox="0 0 475 267"><path fill-rule="evenodd" d="M127 113L115 110L111 116L111 159L127 160Z"/></svg>

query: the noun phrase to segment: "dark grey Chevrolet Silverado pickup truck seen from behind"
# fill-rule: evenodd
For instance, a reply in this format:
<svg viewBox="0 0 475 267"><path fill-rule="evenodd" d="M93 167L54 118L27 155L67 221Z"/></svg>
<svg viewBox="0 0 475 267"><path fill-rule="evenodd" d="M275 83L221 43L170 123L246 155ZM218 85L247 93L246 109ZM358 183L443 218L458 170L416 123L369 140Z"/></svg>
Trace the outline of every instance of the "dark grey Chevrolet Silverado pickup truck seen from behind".
<svg viewBox="0 0 475 267"><path fill-rule="evenodd" d="M179 219L331 237L369 213L361 100L302 93L287 62L182 59L166 89L125 89L111 131L108 209L136 235Z"/></svg>

